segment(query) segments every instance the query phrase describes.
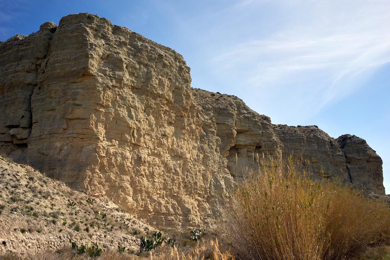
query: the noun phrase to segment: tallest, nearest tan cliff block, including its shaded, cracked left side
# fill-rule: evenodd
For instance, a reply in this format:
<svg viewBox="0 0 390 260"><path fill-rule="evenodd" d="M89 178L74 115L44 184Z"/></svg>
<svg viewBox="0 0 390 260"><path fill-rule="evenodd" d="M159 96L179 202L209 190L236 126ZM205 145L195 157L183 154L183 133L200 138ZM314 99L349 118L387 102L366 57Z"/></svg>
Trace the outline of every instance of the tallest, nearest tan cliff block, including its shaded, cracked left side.
<svg viewBox="0 0 390 260"><path fill-rule="evenodd" d="M156 225L211 225L232 177L183 57L89 14L46 27L1 45L1 152Z"/></svg>

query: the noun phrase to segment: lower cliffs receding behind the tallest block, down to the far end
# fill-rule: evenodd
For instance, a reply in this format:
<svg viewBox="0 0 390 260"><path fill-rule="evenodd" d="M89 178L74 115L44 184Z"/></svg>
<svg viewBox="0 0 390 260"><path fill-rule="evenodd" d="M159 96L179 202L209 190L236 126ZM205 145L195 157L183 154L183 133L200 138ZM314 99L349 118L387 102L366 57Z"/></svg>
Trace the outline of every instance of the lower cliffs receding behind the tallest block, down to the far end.
<svg viewBox="0 0 390 260"><path fill-rule="evenodd" d="M256 170L257 153L293 154L310 161L314 179L329 178L384 195L382 160L356 136L330 137L317 126L273 125L235 96L193 88L195 100L215 117L220 152L234 180ZM306 166L304 166L306 167Z"/></svg>

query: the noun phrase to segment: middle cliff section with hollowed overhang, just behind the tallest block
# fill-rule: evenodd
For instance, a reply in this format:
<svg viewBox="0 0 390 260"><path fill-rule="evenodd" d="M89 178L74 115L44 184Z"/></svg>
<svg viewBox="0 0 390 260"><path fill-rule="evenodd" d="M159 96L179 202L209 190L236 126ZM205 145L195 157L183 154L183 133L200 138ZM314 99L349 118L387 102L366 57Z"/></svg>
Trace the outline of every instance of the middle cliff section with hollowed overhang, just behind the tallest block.
<svg viewBox="0 0 390 260"><path fill-rule="evenodd" d="M269 117L259 115L235 96L192 89L195 100L215 118L220 153L234 180L241 181L250 170L257 170L257 154L278 155L281 143Z"/></svg>

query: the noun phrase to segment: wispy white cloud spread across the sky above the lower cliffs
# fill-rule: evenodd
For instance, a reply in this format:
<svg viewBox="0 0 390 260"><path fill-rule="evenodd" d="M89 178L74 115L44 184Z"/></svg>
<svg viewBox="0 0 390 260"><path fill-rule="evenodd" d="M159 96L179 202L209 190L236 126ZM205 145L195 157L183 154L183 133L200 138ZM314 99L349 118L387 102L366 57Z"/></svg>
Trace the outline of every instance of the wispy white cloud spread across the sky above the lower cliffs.
<svg viewBox="0 0 390 260"><path fill-rule="evenodd" d="M261 4L270 4L260 2L248 1L245 8L260 12ZM273 8L286 6L282 2L275 1ZM275 31L257 35L265 29L264 25L256 28L254 18L248 25L253 28L251 38L216 52L210 60L215 75L282 103L305 97L299 98L305 106L296 106L290 113L310 117L352 93L376 68L390 62L387 1L286 2L291 12L280 11L287 18ZM281 92L291 94L283 97ZM263 102L263 106L269 104Z"/></svg>

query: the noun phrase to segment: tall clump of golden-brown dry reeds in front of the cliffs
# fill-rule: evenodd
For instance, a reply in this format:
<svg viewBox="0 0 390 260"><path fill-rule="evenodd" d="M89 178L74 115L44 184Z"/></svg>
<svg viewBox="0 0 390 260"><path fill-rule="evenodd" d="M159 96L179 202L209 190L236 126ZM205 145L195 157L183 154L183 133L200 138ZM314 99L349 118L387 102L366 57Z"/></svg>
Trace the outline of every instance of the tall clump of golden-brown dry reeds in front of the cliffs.
<svg viewBox="0 0 390 260"><path fill-rule="evenodd" d="M314 182L292 157L261 161L259 173L227 199L221 223L238 259L342 259L390 242L390 208L382 201Z"/></svg>

